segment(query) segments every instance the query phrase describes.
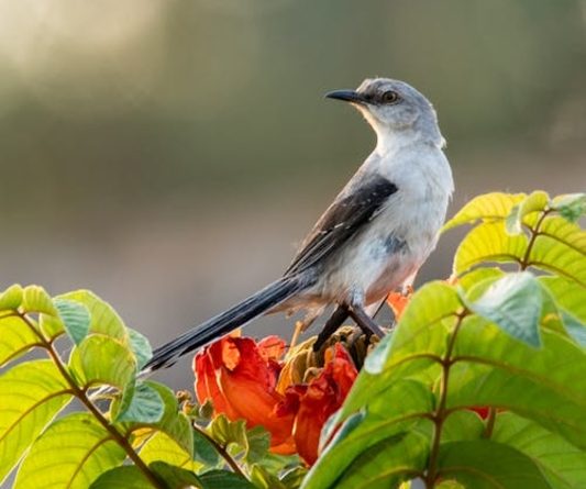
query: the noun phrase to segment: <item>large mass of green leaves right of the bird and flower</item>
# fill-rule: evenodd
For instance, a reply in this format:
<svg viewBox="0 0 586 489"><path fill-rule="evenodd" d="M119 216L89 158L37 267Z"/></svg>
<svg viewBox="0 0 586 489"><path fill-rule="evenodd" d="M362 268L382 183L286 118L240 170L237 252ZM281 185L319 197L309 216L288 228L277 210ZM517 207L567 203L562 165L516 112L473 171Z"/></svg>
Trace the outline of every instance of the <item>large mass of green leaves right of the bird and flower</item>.
<svg viewBox="0 0 586 489"><path fill-rule="evenodd" d="M302 487L585 486L585 211L544 192L465 205L445 225L474 224L453 279L367 357Z"/></svg>

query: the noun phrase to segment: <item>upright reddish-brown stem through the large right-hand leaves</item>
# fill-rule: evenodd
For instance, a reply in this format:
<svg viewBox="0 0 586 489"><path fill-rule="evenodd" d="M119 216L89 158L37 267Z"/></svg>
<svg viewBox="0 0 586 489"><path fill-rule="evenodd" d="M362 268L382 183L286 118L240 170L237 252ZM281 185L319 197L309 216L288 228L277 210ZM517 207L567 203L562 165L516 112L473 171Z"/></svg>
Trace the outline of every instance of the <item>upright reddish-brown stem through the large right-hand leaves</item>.
<svg viewBox="0 0 586 489"><path fill-rule="evenodd" d="M435 479L438 478L438 457L440 455L440 442L442 438L442 429L443 429L443 423L449 414L446 412L445 405L447 403L447 384L450 381L450 368L452 367L452 364L453 364L452 353L454 351L457 332L460 331L462 321L464 320L464 318L466 318L466 315L468 315L468 311L466 309L457 314L457 322L454 326L454 331L452 332L452 335L450 336L447 348L445 351L445 355L441 362L442 378L441 378L441 385L440 385L440 401L438 403L438 409L435 410L435 413L432 415L433 440L431 443L428 473L427 473L427 476L423 478L423 481L425 482L425 489L433 489L435 485Z"/></svg>

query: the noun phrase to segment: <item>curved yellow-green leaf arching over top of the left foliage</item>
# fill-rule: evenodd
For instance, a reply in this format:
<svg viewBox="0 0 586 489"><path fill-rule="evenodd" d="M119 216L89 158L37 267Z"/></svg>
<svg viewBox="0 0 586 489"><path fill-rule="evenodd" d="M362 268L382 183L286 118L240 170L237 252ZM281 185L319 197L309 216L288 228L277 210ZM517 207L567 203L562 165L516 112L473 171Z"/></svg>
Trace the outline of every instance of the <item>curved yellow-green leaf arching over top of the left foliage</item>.
<svg viewBox="0 0 586 489"><path fill-rule="evenodd" d="M77 290L58 296L59 299L73 300L85 305L91 316L89 331L101 333L107 336L120 340L123 343L129 341L129 334L124 323L113 310L113 308L89 290Z"/></svg>

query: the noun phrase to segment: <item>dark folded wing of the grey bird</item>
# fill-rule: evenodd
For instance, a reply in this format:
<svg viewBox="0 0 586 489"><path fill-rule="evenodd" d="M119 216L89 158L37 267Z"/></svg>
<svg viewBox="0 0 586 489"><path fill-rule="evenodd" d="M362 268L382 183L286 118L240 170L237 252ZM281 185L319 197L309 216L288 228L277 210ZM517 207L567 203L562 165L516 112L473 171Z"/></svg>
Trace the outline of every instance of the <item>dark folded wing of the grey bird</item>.
<svg viewBox="0 0 586 489"><path fill-rule="evenodd" d="M306 237L285 275L305 271L343 246L377 215L396 191L397 186L380 176L343 191Z"/></svg>

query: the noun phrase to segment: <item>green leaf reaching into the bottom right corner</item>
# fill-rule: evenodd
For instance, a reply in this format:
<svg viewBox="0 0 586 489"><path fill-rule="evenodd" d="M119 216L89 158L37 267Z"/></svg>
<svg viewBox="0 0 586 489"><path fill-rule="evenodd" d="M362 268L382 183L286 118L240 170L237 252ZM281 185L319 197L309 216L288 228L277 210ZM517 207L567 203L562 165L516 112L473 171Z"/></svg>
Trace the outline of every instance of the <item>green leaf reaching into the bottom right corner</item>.
<svg viewBox="0 0 586 489"><path fill-rule="evenodd" d="M531 458L552 488L579 488L586 480L586 452L530 420L499 413L491 440Z"/></svg>

